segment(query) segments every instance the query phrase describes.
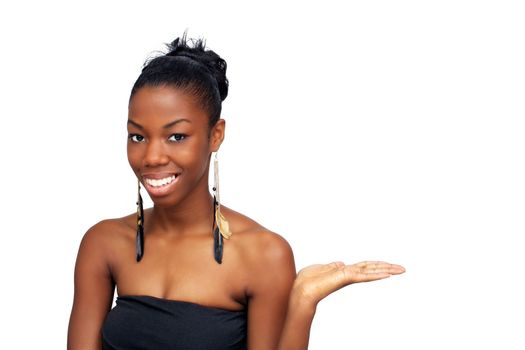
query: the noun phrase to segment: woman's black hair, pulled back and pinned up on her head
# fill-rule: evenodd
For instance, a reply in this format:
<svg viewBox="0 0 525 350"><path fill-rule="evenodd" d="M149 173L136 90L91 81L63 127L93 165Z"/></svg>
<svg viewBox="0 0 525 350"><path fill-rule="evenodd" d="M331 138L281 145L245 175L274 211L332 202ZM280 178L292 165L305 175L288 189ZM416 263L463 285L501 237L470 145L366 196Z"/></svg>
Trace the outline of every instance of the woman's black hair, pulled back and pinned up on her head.
<svg viewBox="0 0 525 350"><path fill-rule="evenodd" d="M219 120L222 101L228 96L226 61L212 50L206 50L204 39L182 38L166 44L167 53L148 58L142 73L131 89L133 95L144 86L173 86L193 95L201 107L208 112L209 126Z"/></svg>

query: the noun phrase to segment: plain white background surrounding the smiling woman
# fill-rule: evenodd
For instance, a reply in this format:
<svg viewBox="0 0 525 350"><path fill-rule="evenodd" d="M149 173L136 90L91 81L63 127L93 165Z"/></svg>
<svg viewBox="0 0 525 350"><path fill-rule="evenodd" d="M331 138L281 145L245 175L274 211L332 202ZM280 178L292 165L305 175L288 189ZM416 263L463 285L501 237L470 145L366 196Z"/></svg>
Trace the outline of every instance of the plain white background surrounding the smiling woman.
<svg viewBox="0 0 525 350"><path fill-rule="evenodd" d="M223 203L298 269L407 269L323 300L310 349L524 348L520 2L0 6L2 348L65 348L83 234L136 210L132 84L186 28L228 63Z"/></svg>

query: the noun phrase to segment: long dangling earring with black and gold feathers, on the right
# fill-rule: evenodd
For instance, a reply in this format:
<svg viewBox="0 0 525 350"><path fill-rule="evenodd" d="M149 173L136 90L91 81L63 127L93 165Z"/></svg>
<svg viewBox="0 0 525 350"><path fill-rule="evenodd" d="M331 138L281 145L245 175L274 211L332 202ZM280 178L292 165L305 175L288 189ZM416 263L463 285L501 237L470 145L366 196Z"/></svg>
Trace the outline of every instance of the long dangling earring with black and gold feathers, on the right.
<svg viewBox="0 0 525 350"><path fill-rule="evenodd" d="M229 239L232 235L230 231L230 225L228 220L221 213L221 200L219 196L219 160L217 158L217 152L215 152L215 157L213 161L213 172L214 172L214 186L213 191L213 225L217 222L217 227L213 230L213 251L215 260L217 263L222 263L222 252L223 252L223 240L222 238Z"/></svg>

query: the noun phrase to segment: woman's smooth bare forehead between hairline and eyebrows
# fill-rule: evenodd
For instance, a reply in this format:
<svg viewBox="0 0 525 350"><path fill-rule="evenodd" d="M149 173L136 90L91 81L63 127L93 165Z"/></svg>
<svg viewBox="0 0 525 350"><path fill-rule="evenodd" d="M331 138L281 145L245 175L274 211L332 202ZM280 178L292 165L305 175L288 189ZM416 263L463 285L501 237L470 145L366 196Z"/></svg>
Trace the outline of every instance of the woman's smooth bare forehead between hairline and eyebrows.
<svg viewBox="0 0 525 350"><path fill-rule="evenodd" d="M179 118L197 125L208 123L208 113L197 103L197 99L171 86L140 88L130 100L128 116L145 127L154 128Z"/></svg>

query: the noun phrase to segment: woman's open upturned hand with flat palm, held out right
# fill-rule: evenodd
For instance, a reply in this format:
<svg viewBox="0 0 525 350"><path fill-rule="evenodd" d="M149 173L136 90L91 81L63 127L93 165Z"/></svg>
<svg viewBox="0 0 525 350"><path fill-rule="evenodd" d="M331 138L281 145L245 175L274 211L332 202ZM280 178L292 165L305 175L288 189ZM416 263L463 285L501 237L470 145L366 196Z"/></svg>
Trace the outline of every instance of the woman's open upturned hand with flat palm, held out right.
<svg viewBox="0 0 525 350"><path fill-rule="evenodd" d="M315 308L322 299L342 287L352 283L376 281L403 272L403 266L383 261L363 261L353 265L335 261L330 264L310 265L297 274L292 297L296 303Z"/></svg>

